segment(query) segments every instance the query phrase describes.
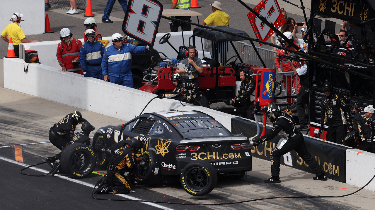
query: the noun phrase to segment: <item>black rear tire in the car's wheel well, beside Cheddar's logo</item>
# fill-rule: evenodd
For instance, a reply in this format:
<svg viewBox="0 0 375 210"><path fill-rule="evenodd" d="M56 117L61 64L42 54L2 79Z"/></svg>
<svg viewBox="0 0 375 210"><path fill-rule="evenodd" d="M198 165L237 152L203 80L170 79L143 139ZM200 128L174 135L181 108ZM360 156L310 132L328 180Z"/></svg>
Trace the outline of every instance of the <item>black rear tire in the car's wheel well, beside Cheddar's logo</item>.
<svg viewBox="0 0 375 210"><path fill-rule="evenodd" d="M152 150L147 150L142 153L141 157L143 157L145 165L138 166L135 169L137 175L136 180L145 185L159 184L162 181L162 176L159 172L160 166L156 153Z"/></svg>

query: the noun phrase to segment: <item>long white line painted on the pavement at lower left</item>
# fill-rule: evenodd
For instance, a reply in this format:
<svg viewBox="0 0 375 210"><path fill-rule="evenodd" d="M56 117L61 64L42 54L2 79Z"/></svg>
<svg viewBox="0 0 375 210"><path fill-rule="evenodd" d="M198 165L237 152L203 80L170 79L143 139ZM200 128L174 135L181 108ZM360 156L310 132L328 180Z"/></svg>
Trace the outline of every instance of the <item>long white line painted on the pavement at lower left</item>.
<svg viewBox="0 0 375 210"><path fill-rule="evenodd" d="M4 161L7 161L9 163L14 163L14 164L17 164L19 166L24 166L24 167L27 167L29 165L27 164L24 164L24 163L20 163L18 161L15 161L15 160L10 160L8 158L5 158L5 157L1 157L0 156L0 160L4 160ZM34 169L38 172L42 172L42 173L49 173L49 171L46 171L44 169L39 169L37 167L30 167L30 169ZM78 179L72 179L72 178L69 178L69 177L66 177L66 176L57 176L59 178L62 178L62 179L65 179L65 180L68 180L68 181L71 181L71 182L75 182L75 183L78 183L78 184L81 184L81 185L85 185L85 186L88 186L90 188L94 188L95 185L92 185L90 183L86 183L86 182L83 182L83 181L80 181ZM113 194L113 195L118 195L118 196L121 196L123 198L126 198L126 199L129 199L129 200L137 200L137 201L142 201L141 199L139 198L135 198L135 197L132 197L132 196L129 196L129 195L125 195L125 194ZM159 209L163 209L163 210L174 210L174 209L171 209L171 208L168 208L168 207L165 207L165 206L161 206L159 204L156 204L156 203L148 203L148 202L140 202L140 203L144 203L144 204L147 204L147 205L150 205L150 206L153 206L153 207L156 207L156 208L159 208Z"/></svg>

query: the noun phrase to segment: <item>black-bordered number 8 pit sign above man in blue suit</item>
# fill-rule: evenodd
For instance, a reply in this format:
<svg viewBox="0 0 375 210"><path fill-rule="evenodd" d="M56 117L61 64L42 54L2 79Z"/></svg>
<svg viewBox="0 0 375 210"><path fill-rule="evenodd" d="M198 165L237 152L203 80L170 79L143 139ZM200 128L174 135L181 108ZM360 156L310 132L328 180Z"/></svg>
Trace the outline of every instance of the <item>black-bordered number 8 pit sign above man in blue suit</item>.
<svg viewBox="0 0 375 210"><path fill-rule="evenodd" d="M122 31L151 47L159 27L163 5L156 0L129 0Z"/></svg>

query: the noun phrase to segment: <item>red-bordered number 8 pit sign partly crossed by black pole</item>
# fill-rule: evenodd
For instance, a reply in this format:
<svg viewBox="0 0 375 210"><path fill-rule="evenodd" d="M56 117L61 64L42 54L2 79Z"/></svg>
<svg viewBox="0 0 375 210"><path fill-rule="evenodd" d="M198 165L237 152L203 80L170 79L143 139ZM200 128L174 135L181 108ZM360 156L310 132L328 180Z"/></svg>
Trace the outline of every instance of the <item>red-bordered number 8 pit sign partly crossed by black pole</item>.
<svg viewBox="0 0 375 210"><path fill-rule="evenodd" d="M285 18L281 13L277 0L262 0L255 8L255 12L266 18L275 28L280 28L285 23ZM248 18L255 35L259 40L266 41L274 31L261 21L252 12L249 12ZM262 45L262 43L260 43Z"/></svg>

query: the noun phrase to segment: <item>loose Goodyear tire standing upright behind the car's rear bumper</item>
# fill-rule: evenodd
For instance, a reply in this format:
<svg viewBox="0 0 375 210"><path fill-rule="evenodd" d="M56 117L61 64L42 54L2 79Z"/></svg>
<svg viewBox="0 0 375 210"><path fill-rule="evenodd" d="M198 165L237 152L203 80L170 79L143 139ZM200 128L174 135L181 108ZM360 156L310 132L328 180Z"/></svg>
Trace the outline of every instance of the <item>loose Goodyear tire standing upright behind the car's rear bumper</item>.
<svg viewBox="0 0 375 210"><path fill-rule="evenodd" d="M214 167L202 160L188 163L180 175L180 183L190 195L202 196L213 190L217 182Z"/></svg>

